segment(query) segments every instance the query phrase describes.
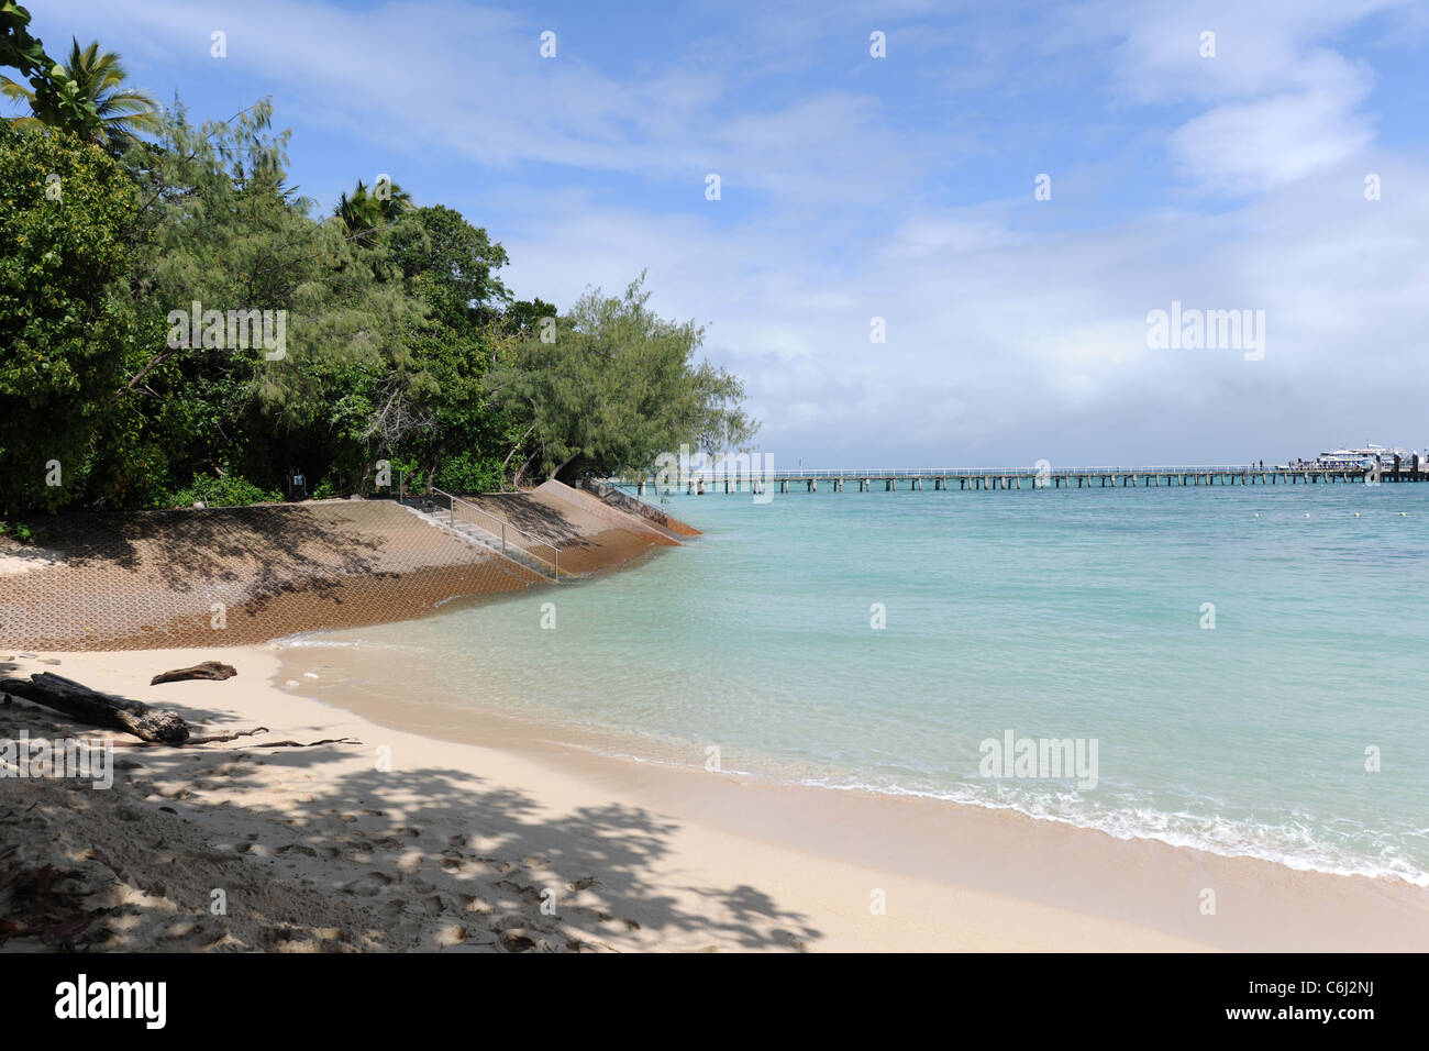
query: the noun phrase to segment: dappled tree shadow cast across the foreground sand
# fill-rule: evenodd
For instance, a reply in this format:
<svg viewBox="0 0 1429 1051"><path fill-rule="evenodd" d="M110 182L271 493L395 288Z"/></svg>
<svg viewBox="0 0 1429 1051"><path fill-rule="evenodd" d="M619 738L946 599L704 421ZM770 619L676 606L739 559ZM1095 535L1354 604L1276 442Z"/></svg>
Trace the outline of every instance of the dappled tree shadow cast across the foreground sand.
<svg viewBox="0 0 1429 1051"><path fill-rule="evenodd" d="M802 951L820 937L755 887L674 875L669 818L617 802L552 812L456 769L354 769L373 748L126 749L137 765L114 789L46 786L59 802L39 811L0 782L10 937L80 951ZM292 768L294 794L260 798L274 765ZM71 824L74 808L94 819ZM57 859L7 861L4 842L41 818ZM96 909L116 881L127 901ZM210 914L216 888L227 915Z"/></svg>

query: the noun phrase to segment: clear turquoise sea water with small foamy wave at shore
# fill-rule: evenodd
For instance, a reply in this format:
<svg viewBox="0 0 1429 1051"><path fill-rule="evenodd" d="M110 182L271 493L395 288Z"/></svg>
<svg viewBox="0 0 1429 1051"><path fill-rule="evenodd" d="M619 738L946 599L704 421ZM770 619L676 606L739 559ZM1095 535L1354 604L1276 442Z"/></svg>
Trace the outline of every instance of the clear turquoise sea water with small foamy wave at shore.
<svg viewBox="0 0 1429 1051"><path fill-rule="evenodd" d="M420 656L440 673L407 696L453 719L1429 885L1429 485L666 506L704 536L313 642L390 651L404 678ZM1009 731L1095 739L1096 785L983 776Z"/></svg>

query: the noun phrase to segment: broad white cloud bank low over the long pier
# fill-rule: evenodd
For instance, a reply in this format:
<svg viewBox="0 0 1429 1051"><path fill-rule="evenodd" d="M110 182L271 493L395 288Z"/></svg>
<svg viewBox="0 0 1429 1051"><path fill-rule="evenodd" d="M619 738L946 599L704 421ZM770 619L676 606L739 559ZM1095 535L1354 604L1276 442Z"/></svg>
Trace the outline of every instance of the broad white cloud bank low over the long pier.
<svg viewBox="0 0 1429 1051"><path fill-rule="evenodd" d="M956 212L909 217L849 246L857 262L837 276L823 240L777 224L579 209L509 242L512 277L523 295L569 295L647 263L656 309L714 319L707 350L747 378L762 448L782 462L1269 459L1342 435L1425 445L1418 389L1395 378L1422 369L1429 330L1416 249L1429 202L1410 189L1429 169L1383 167L1382 202L1339 166L1215 217L1030 242L1013 204L983 209L970 233ZM759 260L757 280L743 260ZM1265 360L1147 349L1147 310L1173 299L1265 310ZM869 342L872 315L886 345Z"/></svg>

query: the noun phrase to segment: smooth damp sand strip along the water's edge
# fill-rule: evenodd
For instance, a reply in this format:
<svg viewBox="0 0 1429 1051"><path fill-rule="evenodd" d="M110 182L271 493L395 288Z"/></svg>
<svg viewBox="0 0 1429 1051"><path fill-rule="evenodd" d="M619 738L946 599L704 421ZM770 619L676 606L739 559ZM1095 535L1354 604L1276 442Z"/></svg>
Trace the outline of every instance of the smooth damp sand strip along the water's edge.
<svg viewBox="0 0 1429 1051"><path fill-rule="evenodd" d="M282 641L276 643L282 645ZM330 651L304 648L303 658L314 652ZM283 673L293 669L302 675L313 666L310 659L303 658L294 659L292 651L282 651ZM1369 937L1382 938L1386 947L1412 951L1429 939L1429 917L1415 924L1418 932L1400 938L1403 917L1378 922L1358 908L1355 899L1363 897L1395 912L1422 912L1429 905L1429 891L1393 874L1326 872L1276 859L1170 844L1156 837L1117 837L1010 806L797 784L750 772L709 774L694 765L596 748L580 739L577 728L567 725L503 716L502 731L492 734L490 728L476 724L476 719L489 716L473 712L473 725L466 726L464 734L443 734L432 728L413 731L400 721L384 719L366 705L352 702L352 694L344 695L342 686L336 688L336 698L322 701L380 725L433 739L519 752L553 772L569 774L574 769L592 785L617 789L644 806L663 805L683 819L755 839L765 848L795 847L806 858L882 871L889 878L926 881L950 892L1006 895L1015 891L1012 897L1023 904L1069 912L1080 912L1090 905L1097 919L1133 922L1155 935L1185 939L1186 945L1180 948L1340 951L1366 948L1356 939L1375 931ZM742 796L755 796L759 802L749 805ZM830 837L829 829L839 829L839 835ZM850 847L852 841L862 847ZM1029 841L1032 845L1027 845ZM1075 859L1070 867L1069 858ZM1042 875L1059 865L1063 867L1060 885L1046 885ZM1142 874L1142 879L1135 885L1119 881L1117 874L1126 869ZM1153 887L1189 887L1186 881L1192 877L1205 877L1206 882L1199 889L1215 889L1225 882L1242 895L1250 891L1256 898L1262 898L1266 888L1275 888L1276 894L1306 897L1293 907L1262 898L1253 909L1259 919L1239 915L1238 909L1235 919L1226 924L1235 929L1219 929L1220 924L1215 924L1208 932L1202 921L1215 918L1199 914L1199 897L1189 912L1177 918L1179 905L1170 904L1175 895L1162 895ZM1123 897L1126 891L1132 891L1133 901ZM1323 902L1310 904L1322 897ZM1320 942L1315 937L1299 945L1293 944L1295 937L1260 941L1263 937L1285 935L1293 922L1305 922L1303 917L1296 919L1303 909L1318 911L1322 904L1326 911L1342 914L1335 918L1322 915L1313 924L1319 934L1329 932L1330 941ZM1133 917L1130 921L1127 911Z"/></svg>

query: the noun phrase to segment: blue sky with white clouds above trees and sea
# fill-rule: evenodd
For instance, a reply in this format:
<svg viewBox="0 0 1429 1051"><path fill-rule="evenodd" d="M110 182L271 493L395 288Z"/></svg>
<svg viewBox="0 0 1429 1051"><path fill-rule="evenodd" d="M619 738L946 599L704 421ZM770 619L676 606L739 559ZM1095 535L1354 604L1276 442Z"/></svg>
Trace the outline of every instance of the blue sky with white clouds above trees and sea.
<svg viewBox="0 0 1429 1051"><path fill-rule="evenodd" d="M644 272L777 469L1429 448L1422 0L27 7L194 120L272 97L322 210L390 174L520 299Z"/></svg>

